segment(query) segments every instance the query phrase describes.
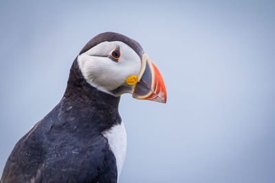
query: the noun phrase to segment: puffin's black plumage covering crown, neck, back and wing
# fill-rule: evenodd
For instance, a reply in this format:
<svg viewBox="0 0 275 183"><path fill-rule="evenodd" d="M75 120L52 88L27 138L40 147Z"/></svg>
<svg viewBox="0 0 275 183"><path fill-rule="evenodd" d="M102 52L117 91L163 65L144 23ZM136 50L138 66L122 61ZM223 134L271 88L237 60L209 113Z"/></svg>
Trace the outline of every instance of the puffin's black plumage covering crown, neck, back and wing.
<svg viewBox="0 0 275 183"><path fill-rule="evenodd" d="M137 42L111 32L90 40L80 53L106 40L121 40L143 54ZM121 123L119 101L88 84L74 60L63 98L15 145L1 183L116 182L115 156L102 132Z"/></svg>

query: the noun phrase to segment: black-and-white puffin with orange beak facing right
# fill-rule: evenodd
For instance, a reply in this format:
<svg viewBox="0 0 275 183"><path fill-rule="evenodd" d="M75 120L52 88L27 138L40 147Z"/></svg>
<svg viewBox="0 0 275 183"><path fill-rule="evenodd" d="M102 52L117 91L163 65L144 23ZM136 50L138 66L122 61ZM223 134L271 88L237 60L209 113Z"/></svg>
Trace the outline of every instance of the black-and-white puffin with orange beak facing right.
<svg viewBox="0 0 275 183"><path fill-rule="evenodd" d="M61 101L14 146L5 182L118 182L126 154L120 96L166 103L162 75L138 42L98 34L69 72Z"/></svg>

